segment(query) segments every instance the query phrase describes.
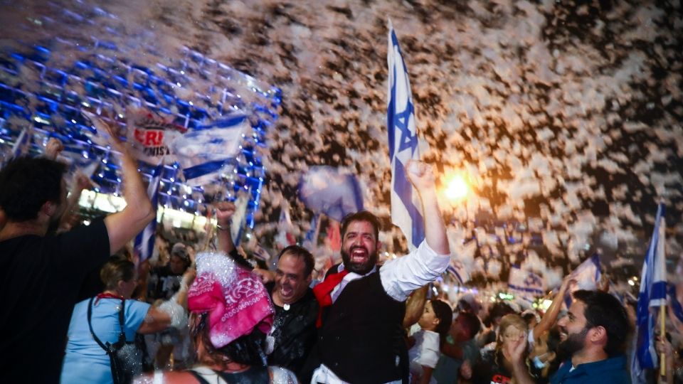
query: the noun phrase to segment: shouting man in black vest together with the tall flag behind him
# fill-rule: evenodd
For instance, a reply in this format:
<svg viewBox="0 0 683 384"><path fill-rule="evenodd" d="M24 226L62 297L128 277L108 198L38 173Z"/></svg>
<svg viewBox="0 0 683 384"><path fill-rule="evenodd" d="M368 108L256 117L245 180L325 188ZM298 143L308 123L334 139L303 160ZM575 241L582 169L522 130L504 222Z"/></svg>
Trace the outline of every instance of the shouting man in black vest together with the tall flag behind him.
<svg viewBox="0 0 683 384"><path fill-rule="evenodd" d="M342 264L313 292L320 305L319 338L309 367L313 383L401 383L408 380L403 341L405 301L450 262L431 166L418 161L413 102L398 38L388 36L388 136L391 208L411 252L377 266L379 220L368 211L342 221ZM415 193L416 192L416 193ZM421 208L421 209L420 209Z"/></svg>

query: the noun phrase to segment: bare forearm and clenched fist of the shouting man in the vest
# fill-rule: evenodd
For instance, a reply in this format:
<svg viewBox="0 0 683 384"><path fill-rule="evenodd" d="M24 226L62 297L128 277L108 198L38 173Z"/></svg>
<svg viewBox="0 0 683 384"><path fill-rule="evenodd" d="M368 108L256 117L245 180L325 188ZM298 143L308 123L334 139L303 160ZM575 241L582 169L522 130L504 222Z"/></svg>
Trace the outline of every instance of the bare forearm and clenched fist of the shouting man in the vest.
<svg viewBox="0 0 683 384"><path fill-rule="evenodd" d="M422 161L409 160L406 176L420 195L425 220L425 240L430 248L439 255L449 255L446 227L436 197L436 184L432 166Z"/></svg>

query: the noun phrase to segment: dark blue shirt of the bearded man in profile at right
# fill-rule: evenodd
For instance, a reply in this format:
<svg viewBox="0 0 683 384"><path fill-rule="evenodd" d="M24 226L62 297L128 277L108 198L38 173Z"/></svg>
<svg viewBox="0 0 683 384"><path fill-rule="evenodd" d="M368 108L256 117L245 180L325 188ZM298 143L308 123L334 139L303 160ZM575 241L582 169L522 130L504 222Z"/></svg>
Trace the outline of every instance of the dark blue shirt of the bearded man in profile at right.
<svg viewBox="0 0 683 384"><path fill-rule="evenodd" d="M626 357L616 356L593 363L571 365L571 360L550 379L552 384L630 384L631 378L626 370Z"/></svg>

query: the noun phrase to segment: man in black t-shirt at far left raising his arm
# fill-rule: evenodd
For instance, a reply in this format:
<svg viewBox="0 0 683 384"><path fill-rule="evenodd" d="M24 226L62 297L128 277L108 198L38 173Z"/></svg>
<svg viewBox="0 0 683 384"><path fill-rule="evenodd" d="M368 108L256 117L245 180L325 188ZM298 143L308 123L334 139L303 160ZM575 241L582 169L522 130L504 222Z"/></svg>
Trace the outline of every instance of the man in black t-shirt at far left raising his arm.
<svg viewBox="0 0 683 384"><path fill-rule="evenodd" d="M46 158L19 158L0 170L0 382L58 383L66 331L85 276L131 240L154 210L137 162L111 132L121 156L121 212L65 233L48 233L66 206L65 165ZM36 363L38 369L36 369Z"/></svg>

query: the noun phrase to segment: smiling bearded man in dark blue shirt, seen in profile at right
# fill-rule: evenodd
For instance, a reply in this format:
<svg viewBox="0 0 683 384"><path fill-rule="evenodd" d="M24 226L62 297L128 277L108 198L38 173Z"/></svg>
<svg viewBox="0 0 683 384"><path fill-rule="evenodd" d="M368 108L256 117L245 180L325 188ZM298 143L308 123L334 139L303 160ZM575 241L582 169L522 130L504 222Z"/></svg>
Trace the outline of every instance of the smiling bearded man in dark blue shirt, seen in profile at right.
<svg viewBox="0 0 683 384"><path fill-rule="evenodd" d="M620 302L601 291L578 290L567 316L558 321L559 349L571 356L551 378L553 384L630 383L623 344L628 317Z"/></svg>

